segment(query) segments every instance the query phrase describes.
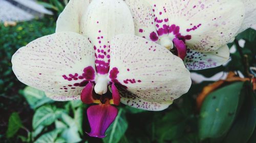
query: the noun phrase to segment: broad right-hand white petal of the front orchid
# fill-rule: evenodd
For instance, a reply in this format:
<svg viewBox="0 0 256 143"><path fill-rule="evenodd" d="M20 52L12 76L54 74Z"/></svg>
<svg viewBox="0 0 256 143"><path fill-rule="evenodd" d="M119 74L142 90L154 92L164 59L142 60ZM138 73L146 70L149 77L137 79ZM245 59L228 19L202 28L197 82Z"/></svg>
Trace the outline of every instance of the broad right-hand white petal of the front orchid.
<svg viewBox="0 0 256 143"><path fill-rule="evenodd" d="M180 58L134 35L119 35L111 41L109 77L134 95L121 94L122 103L147 110L167 107L191 85L190 73ZM140 104L140 100L145 103ZM151 103L163 106L157 108Z"/></svg>

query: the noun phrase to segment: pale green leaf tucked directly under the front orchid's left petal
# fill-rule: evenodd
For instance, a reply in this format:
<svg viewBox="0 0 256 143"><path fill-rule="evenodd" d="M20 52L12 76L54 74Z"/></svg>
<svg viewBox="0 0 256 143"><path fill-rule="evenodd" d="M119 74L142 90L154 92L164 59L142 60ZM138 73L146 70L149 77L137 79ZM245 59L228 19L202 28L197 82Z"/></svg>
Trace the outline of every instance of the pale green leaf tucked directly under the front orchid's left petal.
<svg viewBox="0 0 256 143"><path fill-rule="evenodd" d="M32 109L35 109L45 103L53 102L52 99L46 97L45 92L31 87L26 87L23 91L23 95Z"/></svg>

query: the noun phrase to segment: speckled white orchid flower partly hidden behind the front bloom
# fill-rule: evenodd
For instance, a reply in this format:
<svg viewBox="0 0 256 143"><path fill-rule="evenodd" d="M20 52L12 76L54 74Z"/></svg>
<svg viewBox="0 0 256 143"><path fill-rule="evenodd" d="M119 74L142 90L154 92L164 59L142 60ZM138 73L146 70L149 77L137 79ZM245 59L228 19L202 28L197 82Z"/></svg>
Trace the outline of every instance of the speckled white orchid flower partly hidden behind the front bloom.
<svg viewBox="0 0 256 143"><path fill-rule="evenodd" d="M226 44L256 23L254 0L125 2L134 17L135 34L163 45L190 70L225 63L229 59Z"/></svg>

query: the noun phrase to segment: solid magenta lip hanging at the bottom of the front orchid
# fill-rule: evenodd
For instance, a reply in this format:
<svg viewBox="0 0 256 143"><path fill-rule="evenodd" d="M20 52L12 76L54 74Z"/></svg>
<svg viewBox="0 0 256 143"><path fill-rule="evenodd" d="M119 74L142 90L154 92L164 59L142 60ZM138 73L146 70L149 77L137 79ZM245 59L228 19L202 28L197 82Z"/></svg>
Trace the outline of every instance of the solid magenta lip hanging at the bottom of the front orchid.
<svg viewBox="0 0 256 143"><path fill-rule="evenodd" d="M116 119L118 110L116 107L106 104L90 106L87 109L87 116L91 126L88 135L92 137L105 137L105 131Z"/></svg>

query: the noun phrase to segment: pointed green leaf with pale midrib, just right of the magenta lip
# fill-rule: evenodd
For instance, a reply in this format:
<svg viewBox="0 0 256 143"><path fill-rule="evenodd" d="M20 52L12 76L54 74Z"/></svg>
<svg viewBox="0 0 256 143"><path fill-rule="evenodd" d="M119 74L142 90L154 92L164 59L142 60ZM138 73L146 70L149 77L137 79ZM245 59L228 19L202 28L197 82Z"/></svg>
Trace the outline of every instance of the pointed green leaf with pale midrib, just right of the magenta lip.
<svg viewBox="0 0 256 143"><path fill-rule="evenodd" d="M106 130L104 143L117 143L127 130L128 124L122 108L119 109L118 115L112 125Z"/></svg>

